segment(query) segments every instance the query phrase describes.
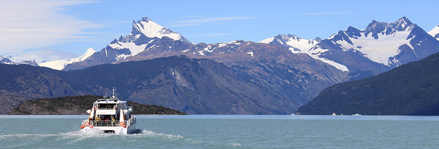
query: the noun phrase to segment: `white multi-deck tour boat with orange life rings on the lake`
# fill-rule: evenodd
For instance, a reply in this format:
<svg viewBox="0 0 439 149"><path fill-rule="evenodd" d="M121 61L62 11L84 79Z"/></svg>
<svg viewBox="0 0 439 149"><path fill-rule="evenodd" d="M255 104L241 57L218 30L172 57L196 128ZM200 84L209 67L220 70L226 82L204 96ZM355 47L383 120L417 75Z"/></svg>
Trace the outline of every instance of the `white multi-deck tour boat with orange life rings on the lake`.
<svg viewBox="0 0 439 149"><path fill-rule="evenodd" d="M93 103L93 108L87 110L90 114L87 120L82 121L83 132L99 129L105 133L132 134L136 131L136 117L131 116L133 107L127 101L116 98L114 94L109 99L98 99Z"/></svg>

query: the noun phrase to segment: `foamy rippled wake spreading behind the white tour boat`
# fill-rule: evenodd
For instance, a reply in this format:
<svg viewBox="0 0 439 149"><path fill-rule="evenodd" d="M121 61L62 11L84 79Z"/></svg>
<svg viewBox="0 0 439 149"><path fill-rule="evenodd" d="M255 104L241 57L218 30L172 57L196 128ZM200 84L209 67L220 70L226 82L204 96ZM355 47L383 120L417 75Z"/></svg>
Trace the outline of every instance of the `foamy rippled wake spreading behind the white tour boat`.
<svg viewBox="0 0 439 149"><path fill-rule="evenodd" d="M184 138L180 135L163 134L145 129L136 129L134 134L107 134L98 129L53 134L0 135L6 148L115 148L134 146L137 148L240 148L240 144L215 144ZM26 142L26 144L16 144ZM56 144L53 144L56 142Z"/></svg>

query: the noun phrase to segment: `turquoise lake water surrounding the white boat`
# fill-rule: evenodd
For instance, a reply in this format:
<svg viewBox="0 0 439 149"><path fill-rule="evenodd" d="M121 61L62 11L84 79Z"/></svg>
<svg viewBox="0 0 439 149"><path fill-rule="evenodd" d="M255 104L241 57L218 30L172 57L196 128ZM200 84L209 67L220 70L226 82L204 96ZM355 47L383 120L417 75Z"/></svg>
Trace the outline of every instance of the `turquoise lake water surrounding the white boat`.
<svg viewBox="0 0 439 149"><path fill-rule="evenodd" d="M81 133L84 115L0 115L1 149L437 149L437 116L138 115L140 133Z"/></svg>

